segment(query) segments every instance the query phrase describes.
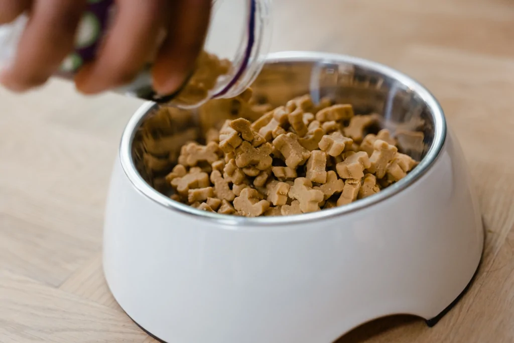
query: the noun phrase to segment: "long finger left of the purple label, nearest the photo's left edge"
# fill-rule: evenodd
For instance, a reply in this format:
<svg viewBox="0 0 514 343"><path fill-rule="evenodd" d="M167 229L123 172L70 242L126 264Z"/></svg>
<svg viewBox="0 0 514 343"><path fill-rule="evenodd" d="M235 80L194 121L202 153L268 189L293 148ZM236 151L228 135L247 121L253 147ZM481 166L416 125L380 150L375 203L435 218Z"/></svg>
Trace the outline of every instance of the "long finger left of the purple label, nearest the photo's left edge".
<svg viewBox="0 0 514 343"><path fill-rule="evenodd" d="M36 0L16 58L0 81L18 92L45 83L73 49L85 4L86 0Z"/></svg>

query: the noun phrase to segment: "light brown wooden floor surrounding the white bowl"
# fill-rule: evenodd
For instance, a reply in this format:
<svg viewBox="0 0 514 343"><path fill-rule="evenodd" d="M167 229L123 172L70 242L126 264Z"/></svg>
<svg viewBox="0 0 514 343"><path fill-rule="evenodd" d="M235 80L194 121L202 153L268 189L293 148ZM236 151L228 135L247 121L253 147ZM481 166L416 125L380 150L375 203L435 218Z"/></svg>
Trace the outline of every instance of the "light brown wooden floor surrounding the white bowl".
<svg viewBox="0 0 514 343"><path fill-rule="evenodd" d="M487 230L478 277L434 328L392 317L340 342L514 341L514 2L275 3L273 50L373 59L431 89L464 147ZM52 81L24 96L2 90L0 102L0 342L152 342L101 267L109 174L140 101L85 98Z"/></svg>

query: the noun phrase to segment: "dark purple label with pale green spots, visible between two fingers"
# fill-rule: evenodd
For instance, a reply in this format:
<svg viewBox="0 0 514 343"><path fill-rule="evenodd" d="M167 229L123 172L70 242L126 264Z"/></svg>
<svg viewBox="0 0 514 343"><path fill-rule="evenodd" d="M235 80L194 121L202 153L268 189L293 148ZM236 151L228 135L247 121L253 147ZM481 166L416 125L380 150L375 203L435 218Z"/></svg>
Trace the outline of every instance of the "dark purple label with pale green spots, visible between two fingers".
<svg viewBox="0 0 514 343"><path fill-rule="evenodd" d="M84 63L95 58L111 19L113 5L114 0L88 0L87 10L77 30L75 51L63 61L62 71L74 74Z"/></svg>

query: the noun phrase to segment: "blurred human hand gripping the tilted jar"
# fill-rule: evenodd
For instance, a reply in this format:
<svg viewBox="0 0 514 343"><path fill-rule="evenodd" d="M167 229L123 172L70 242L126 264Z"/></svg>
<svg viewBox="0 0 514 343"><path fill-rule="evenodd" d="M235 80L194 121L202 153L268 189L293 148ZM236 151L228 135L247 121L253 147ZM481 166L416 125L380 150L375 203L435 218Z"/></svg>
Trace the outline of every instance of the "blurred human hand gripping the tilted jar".
<svg viewBox="0 0 514 343"><path fill-rule="evenodd" d="M0 24L27 12L28 24L0 82L15 92L44 84L74 50L87 0L0 0ZM211 0L116 0L116 17L94 61L75 77L95 94L130 82L152 53L154 89L171 94L185 81L203 47ZM163 41L159 40L166 33Z"/></svg>

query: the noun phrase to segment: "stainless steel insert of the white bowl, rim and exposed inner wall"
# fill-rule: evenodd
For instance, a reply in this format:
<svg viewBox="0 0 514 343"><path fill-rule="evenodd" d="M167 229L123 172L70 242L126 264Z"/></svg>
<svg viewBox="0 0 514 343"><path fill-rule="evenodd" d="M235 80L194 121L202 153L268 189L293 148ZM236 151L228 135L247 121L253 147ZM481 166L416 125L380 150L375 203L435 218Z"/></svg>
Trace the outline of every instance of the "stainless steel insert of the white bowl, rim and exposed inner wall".
<svg viewBox="0 0 514 343"><path fill-rule="evenodd" d="M387 201L389 197L414 183L430 168L445 142L446 121L443 110L433 95L408 76L371 61L318 52L274 53L268 57L261 75L252 87L259 101L273 105L282 105L287 100L306 93L310 93L314 100L328 96L337 102L351 103L357 114L379 114L383 119L381 127L390 129L393 134L405 129L421 131L425 136L423 144L404 151L421 162L398 183L373 196L333 209L259 218L201 211L172 201L159 193L143 179L135 167L138 161L134 159L132 142L141 123L156 107L155 103L148 102L128 122L120 144L121 164L134 187L170 210L215 220L229 226L228 228L293 224L343 215Z"/></svg>

